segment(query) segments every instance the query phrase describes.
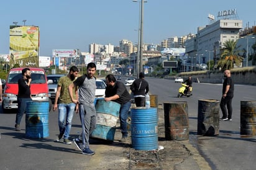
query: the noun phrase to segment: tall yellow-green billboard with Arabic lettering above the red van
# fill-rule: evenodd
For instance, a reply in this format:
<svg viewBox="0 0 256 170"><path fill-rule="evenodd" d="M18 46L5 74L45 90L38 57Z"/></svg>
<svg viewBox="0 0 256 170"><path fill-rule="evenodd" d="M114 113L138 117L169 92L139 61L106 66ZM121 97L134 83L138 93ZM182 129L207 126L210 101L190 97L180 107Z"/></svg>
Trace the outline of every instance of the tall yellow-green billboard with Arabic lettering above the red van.
<svg viewBox="0 0 256 170"><path fill-rule="evenodd" d="M9 54L11 68L39 67L39 27L11 25Z"/></svg>

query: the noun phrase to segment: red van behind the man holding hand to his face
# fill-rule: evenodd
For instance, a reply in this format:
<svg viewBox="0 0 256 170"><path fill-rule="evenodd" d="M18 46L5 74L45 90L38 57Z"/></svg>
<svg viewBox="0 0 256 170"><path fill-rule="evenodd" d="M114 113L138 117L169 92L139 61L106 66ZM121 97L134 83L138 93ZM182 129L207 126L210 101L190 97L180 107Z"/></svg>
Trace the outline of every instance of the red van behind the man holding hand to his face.
<svg viewBox="0 0 256 170"><path fill-rule="evenodd" d="M2 97L2 110L6 112L9 109L17 109L18 80L22 78L21 71L24 68L12 68L7 75L6 86ZM49 110L52 108L52 102L48 97L48 84L45 71L41 68L30 68L32 81L30 91L32 101L49 102Z"/></svg>

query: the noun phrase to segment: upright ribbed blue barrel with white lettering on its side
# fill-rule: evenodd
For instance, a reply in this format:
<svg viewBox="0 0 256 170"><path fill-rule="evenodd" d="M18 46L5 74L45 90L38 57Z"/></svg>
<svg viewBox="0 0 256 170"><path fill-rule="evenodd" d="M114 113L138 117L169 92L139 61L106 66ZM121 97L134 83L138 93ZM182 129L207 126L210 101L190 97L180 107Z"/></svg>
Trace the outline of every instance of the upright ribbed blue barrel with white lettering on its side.
<svg viewBox="0 0 256 170"><path fill-rule="evenodd" d="M132 115L132 148L135 150L157 150L158 114L157 108L137 107L130 109Z"/></svg>

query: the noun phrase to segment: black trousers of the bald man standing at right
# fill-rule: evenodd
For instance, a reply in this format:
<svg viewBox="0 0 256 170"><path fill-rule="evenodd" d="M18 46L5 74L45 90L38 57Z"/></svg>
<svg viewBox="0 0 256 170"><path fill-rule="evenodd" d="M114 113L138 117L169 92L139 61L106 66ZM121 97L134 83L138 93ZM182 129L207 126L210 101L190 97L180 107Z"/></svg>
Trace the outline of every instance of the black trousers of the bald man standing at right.
<svg viewBox="0 0 256 170"><path fill-rule="evenodd" d="M231 119L232 118L232 99L233 96L226 96L225 98L221 98L221 111L222 111L222 118ZM227 105L227 109L226 109Z"/></svg>

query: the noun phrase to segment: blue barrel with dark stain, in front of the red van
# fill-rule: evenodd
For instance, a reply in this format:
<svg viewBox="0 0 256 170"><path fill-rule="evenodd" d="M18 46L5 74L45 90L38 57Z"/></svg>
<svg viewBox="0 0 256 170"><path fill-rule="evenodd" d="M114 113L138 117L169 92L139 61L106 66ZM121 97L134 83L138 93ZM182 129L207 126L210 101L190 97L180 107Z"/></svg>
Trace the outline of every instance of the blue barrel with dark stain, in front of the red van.
<svg viewBox="0 0 256 170"><path fill-rule="evenodd" d="M25 135L29 138L49 136L49 102L27 102Z"/></svg>

